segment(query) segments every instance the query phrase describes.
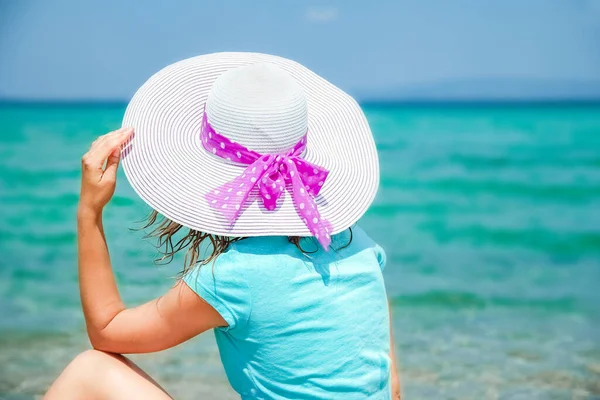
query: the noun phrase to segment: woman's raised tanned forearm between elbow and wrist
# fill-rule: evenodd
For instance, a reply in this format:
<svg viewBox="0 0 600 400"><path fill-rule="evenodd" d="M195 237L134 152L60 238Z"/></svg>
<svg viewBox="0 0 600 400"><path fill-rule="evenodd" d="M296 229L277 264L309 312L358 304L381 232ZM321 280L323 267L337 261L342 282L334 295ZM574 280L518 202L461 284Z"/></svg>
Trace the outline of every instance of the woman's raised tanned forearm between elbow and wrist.
<svg viewBox="0 0 600 400"><path fill-rule="evenodd" d="M77 245L81 305L93 345L101 331L124 309L110 263L101 212L80 207Z"/></svg>

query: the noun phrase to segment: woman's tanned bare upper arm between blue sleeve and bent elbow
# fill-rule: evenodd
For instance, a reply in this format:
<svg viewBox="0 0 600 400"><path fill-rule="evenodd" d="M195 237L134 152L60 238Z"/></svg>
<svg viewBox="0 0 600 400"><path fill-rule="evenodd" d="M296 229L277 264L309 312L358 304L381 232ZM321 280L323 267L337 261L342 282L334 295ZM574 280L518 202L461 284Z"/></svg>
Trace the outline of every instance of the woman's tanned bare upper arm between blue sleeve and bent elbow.
<svg viewBox="0 0 600 400"><path fill-rule="evenodd" d="M226 326L223 317L183 281L164 296L118 313L95 336L92 345L113 353L164 350L212 328Z"/></svg>

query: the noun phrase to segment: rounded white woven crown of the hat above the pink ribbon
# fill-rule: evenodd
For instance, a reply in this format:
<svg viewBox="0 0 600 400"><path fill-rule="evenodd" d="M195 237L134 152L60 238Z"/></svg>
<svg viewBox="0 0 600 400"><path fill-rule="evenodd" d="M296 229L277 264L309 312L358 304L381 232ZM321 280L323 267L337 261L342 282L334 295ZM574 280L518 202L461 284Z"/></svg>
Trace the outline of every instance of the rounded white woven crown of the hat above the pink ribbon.
<svg viewBox="0 0 600 400"><path fill-rule="evenodd" d="M219 134L261 154L290 150L308 128L304 91L291 75L269 63L219 76L208 95L206 114Z"/></svg>

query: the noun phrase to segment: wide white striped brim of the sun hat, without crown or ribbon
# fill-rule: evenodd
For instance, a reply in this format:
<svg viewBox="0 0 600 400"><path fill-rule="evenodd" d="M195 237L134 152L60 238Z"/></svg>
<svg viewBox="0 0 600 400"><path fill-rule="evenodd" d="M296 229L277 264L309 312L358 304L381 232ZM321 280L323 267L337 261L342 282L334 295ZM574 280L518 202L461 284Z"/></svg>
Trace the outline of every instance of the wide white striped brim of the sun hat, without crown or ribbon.
<svg viewBox="0 0 600 400"><path fill-rule="evenodd" d="M123 146L122 165L150 207L185 227L225 236L310 236L289 192L274 211L251 196L235 224L209 206L205 195L245 166L209 154L200 142L204 104L225 71L272 63L302 87L308 106L304 158L330 171L315 198L321 216L338 233L365 213L379 184L379 163L367 120L356 101L294 61L259 53L214 53L172 64L133 96L123 126L135 135Z"/></svg>

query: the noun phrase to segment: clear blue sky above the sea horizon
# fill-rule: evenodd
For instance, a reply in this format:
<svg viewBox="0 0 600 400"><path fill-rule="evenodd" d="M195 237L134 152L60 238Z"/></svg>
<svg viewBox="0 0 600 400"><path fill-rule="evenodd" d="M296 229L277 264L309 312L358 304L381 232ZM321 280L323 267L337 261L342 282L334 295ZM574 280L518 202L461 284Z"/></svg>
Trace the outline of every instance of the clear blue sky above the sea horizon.
<svg viewBox="0 0 600 400"><path fill-rule="evenodd" d="M0 97L128 99L169 63L231 50L292 58L367 96L499 78L581 86L600 82L598 38L600 0L4 0Z"/></svg>

